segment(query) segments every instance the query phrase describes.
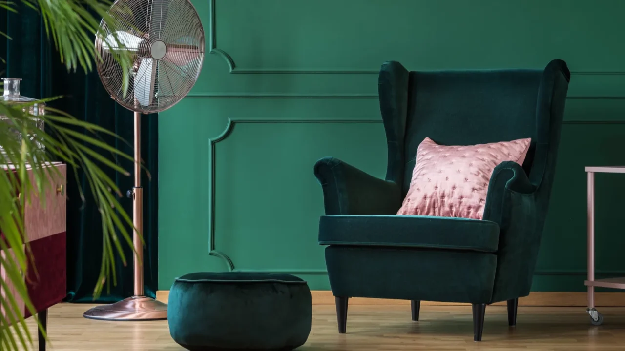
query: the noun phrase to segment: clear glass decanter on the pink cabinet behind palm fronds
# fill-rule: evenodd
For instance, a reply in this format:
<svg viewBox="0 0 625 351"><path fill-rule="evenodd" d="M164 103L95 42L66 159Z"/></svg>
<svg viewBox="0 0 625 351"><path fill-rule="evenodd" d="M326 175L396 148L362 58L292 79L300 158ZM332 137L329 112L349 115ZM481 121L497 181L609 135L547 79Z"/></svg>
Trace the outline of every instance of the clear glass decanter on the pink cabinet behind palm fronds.
<svg viewBox="0 0 625 351"><path fill-rule="evenodd" d="M24 105L22 107L23 112L28 112L28 130L31 131L28 134L29 140L36 141L37 139L37 130L44 129L44 121L42 119L37 118L37 116L43 116L46 114L46 104L44 102L35 102L37 99L32 99L31 97L21 96L19 94L19 82L22 79L20 78L2 78L2 82L4 83L2 86L2 96L0 97L0 101L7 102L8 104L15 105ZM11 126L13 122L7 116L3 116L0 114L0 120L9 124ZM22 142L22 134L14 128L9 127L9 129L16 133L16 141ZM45 147L37 141L37 147L39 149L44 149ZM0 145L0 149L4 152L4 149Z"/></svg>

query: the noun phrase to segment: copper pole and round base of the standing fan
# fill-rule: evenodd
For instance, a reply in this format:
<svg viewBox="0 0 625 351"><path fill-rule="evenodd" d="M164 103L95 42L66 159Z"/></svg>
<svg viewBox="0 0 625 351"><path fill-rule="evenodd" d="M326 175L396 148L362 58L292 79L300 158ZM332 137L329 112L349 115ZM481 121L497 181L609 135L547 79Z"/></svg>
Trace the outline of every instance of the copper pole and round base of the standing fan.
<svg viewBox="0 0 625 351"><path fill-rule="evenodd" d="M133 187L134 295L114 304L98 305L83 316L99 320L163 320L167 305L143 291L143 188L141 187L141 114L134 112L134 187Z"/></svg>

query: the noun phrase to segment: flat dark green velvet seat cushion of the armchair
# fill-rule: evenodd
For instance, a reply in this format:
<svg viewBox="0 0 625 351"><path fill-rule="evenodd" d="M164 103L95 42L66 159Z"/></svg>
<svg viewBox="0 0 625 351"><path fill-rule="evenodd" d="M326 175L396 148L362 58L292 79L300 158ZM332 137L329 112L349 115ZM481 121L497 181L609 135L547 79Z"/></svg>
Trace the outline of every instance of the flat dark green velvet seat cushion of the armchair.
<svg viewBox="0 0 625 351"><path fill-rule="evenodd" d="M421 215L324 215L319 244L497 252L499 225Z"/></svg>

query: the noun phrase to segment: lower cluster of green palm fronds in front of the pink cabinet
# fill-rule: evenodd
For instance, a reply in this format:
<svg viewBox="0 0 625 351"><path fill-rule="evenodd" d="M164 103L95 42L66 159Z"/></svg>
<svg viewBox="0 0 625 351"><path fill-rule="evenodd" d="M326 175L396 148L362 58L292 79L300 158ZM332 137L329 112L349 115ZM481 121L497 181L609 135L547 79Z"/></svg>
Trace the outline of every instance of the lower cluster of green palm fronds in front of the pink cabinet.
<svg viewBox="0 0 625 351"><path fill-rule="evenodd" d="M3 160L2 163L4 164L11 164L8 170L0 172L0 181L8 184L4 187L0 186L0 230L4 234L4 239L0 240L0 250L4 252L9 247L23 248L12 249L12 252L15 252L14 255L5 255L4 258L0 259L0 264L8 277L8 282L0 282L0 285L9 284L10 282L12 286L17 287L21 284L20 289L15 289L17 295L15 297L8 296L4 299L4 304L0 301L0 305L6 305L7 309L14 308L11 301L14 301L19 296L21 300L24 300L27 310L31 314L36 314L36 310L34 310L27 296L27 290L24 285L25 277L21 273L25 272L28 267L34 267L34 265L31 262L32 257L27 255L28 243L22 235L24 233L23 219L17 214L21 213L20 211L24 209L24 206L32 200L42 201L42 204L45 205L46 190L54 186L49 179L59 176L59 171L56 167L30 168L27 165L50 162L53 156L60 161L73 164L75 166L73 167L75 175L78 167L84 170L86 182L94 194L94 200L101 213L104 252L103 270L101 270L101 277L94 288L94 297L98 297L104 288L104 284L107 284L107 286L110 286L111 282L116 284L115 257L122 257L123 263L127 263L121 243L124 241L130 247L133 247L132 232L128 228L134 229L134 227L131 217L124 211L117 200L118 197L121 197L121 191L113 179L96 162L123 175L129 175L129 172L110 159L101 156L101 154L98 154L89 146L99 147L104 151L111 152L111 154L125 159L133 161L134 159L123 152L119 152L105 142L99 141L94 136L81 134L71 129L70 127L83 127L88 134L89 132L94 135L96 135L96 132L112 134L111 132L103 131L99 126L82 121L78 122L77 119L71 116L38 116L38 118L44 120L49 132L37 130L35 139L24 137L21 141L18 141L15 131L26 136L35 131L33 124L30 123L30 119L33 116L29 116L21 109L16 109L2 102L0 102L0 114L6 116L6 119L0 120L0 145L2 145L4 151L0 159ZM39 148L39 144L46 148ZM75 179L78 181L79 178L75 177ZM20 201L16 200L18 194L21 195ZM33 196L34 194L37 194L37 196ZM81 198L84 199L84 195ZM118 234L121 235L123 240L119 240ZM109 279L109 277L112 279ZM6 320L1 321L2 325L9 324L15 326L21 325L21 322L23 322L23 316L20 315L7 315L6 317ZM26 330L26 334L24 334L23 330ZM12 335L16 335L16 339L11 339ZM30 342L29 334L27 334L27 329L24 329L24 327L13 327L12 334L2 330L0 339L2 339L0 340L0 345L3 348L9 347L9 350L11 350L10 348L15 349L17 344Z"/></svg>

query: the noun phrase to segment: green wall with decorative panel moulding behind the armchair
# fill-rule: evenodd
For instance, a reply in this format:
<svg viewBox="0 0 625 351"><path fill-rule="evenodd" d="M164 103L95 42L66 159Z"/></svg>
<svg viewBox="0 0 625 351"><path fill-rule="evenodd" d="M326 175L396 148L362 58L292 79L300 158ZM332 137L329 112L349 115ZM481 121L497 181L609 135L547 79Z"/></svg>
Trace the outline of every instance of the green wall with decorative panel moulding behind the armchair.
<svg viewBox="0 0 625 351"><path fill-rule="evenodd" d="M625 1L192 0L207 54L159 116L159 289L192 271L292 272L329 289L314 162L378 177L377 70L572 71L534 290L583 291L587 165L625 164ZM625 180L597 180L597 269L625 275Z"/></svg>

